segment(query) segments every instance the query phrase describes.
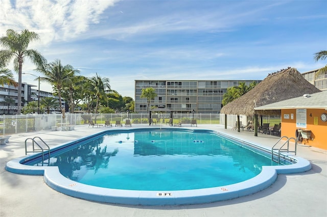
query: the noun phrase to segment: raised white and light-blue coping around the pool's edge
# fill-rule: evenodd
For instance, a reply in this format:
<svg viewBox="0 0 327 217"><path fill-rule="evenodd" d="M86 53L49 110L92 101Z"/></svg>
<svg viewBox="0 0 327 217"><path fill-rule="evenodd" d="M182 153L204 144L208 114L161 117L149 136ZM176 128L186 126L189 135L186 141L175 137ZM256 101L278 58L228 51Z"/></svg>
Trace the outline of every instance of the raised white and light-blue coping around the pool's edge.
<svg viewBox="0 0 327 217"><path fill-rule="evenodd" d="M132 130L134 131L135 129L136 128ZM142 127L137 129L145 128ZM120 129L114 131L128 130L129 129ZM105 133L106 131L112 130L95 133L92 137ZM208 131L217 132L216 130ZM55 146L51 150L67 144L76 143L85 138L89 137L83 137L73 142ZM295 159L295 164L285 166L264 166L259 175L243 182L219 187L165 192L110 189L82 184L62 176L58 167L35 167L21 164L22 161L29 159L30 156L16 158L7 162L6 170L18 174L43 175L45 183L56 191L90 201L129 205L182 205L211 203L251 195L260 192L273 184L277 179L277 174L301 173L311 169L311 164L308 160L294 155L289 156Z"/></svg>

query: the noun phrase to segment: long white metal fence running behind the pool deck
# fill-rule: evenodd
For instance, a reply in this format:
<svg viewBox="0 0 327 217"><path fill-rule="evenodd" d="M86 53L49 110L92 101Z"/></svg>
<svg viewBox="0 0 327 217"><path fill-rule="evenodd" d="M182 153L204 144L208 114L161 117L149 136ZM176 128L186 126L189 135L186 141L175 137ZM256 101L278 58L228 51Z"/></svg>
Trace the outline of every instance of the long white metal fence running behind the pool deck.
<svg viewBox="0 0 327 217"><path fill-rule="evenodd" d="M149 114L141 113L118 113L118 114L65 114L64 118L61 114L42 114L42 115L1 115L0 116L0 135L15 134L22 132L31 132L38 130L51 129L52 127L62 125L80 125L88 124L89 120L98 124L104 124L110 121L125 121L129 119L132 124L149 124ZM156 124L167 124L170 119L168 113L152 113L152 119ZM224 114L184 114L174 113L173 123L182 123L184 125L191 124L191 120L197 120L197 124L224 124ZM240 121L245 126L252 117L240 116ZM236 115L227 116L227 125L235 126L237 120ZM262 121L261 121L262 120ZM262 116L259 123L270 123L270 126L281 122L280 116Z"/></svg>

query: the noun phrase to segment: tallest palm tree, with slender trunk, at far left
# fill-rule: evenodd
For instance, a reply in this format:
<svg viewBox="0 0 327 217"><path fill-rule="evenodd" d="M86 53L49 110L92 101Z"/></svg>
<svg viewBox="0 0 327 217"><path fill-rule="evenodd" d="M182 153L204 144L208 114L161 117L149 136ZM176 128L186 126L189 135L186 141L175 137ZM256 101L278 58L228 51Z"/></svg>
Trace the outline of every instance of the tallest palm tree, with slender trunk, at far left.
<svg viewBox="0 0 327 217"><path fill-rule="evenodd" d="M18 72L18 115L21 106L22 63L24 63L25 58L29 58L36 66L41 66L46 62L40 52L28 49L30 42L38 39L38 34L28 30L23 30L20 34L14 30L7 30L7 35L0 38L0 44L5 47L4 50L0 50L0 67L6 67L14 59L14 70Z"/></svg>

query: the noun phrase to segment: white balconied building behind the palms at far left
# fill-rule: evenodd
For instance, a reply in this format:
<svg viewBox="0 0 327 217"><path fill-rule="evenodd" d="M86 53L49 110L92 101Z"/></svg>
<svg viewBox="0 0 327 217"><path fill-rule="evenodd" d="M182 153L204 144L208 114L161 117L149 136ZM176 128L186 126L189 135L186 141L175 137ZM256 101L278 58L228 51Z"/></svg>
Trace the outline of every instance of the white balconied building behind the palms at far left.
<svg viewBox="0 0 327 217"><path fill-rule="evenodd" d="M21 84L21 106L26 106L30 101L38 101L38 90L32 89L36 87L35 85L30 85L27 83ZM5 84L0 86L0 115L2 114L15 114L17 112L17 99L18 96L18 87ZM40 90L40 99L42 97L53 97L56 98L59 102L59 97L54 96L51 92L41 91ZM12 102L6 102L6 99L12 99ZM65 101L61 100L62 107L65 107ZM58 106L59 107L59 106ZM8 111L9 108L9 111ZM59 111L59 110L58 110Z"/></svg>

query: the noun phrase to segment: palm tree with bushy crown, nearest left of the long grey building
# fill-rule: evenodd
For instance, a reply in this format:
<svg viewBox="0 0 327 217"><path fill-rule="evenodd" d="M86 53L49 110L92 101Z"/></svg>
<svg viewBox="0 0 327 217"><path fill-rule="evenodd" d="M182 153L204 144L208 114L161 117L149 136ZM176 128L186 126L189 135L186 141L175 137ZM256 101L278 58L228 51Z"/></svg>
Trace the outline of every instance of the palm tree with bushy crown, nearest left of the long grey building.
<svg viewBox="0 0 327 217"><path fill-rule="evenodd" d="M106 96L106 92L110 92L109 78L102 78L98 75L98 73L96 73L96 76L90 78L89 85L92 92L94 92L97 97L96 113L98 113L100 98Z"/></svg>

